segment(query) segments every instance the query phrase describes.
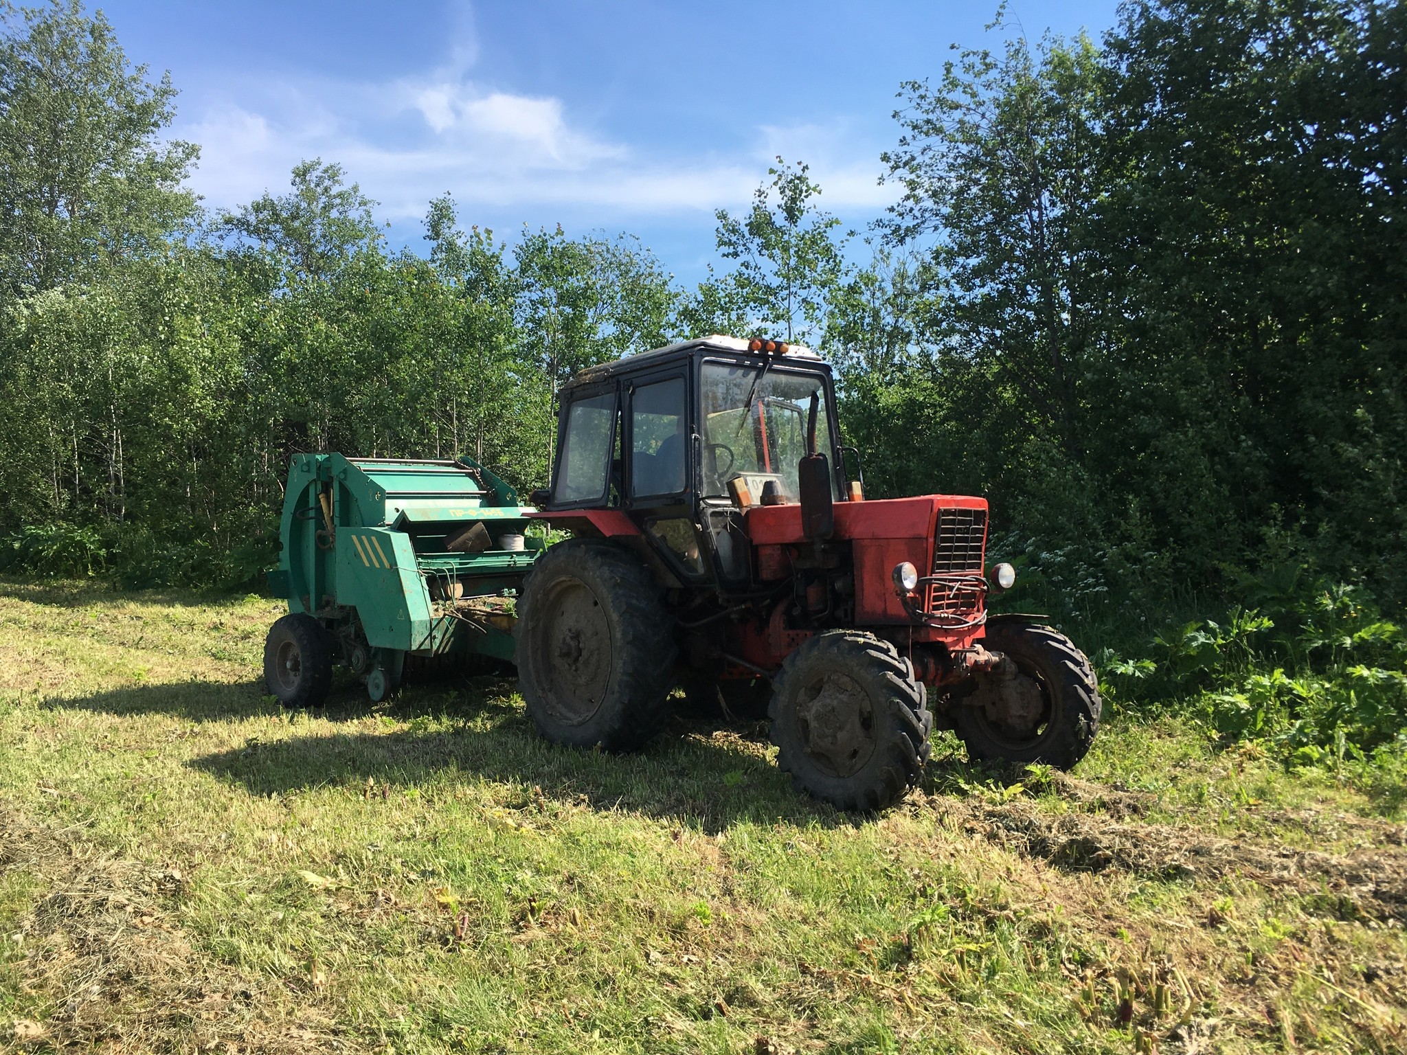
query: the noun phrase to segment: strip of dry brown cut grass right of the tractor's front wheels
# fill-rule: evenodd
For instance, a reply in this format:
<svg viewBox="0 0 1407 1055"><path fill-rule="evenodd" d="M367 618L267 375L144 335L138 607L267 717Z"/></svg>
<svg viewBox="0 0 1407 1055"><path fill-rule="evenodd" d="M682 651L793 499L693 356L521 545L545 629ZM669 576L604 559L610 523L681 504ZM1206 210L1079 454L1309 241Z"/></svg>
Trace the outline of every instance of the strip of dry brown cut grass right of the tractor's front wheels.
<svg viewBox="0 0 1407 1055"><path fill-rule="evenodd" d="M1117 796L1128 793L1116 792ZM1159 879L1242 876L1266 888L1313 895L1325 912L1407 921L1407 847L1383 827L1380 843L1346 855L1209 836L1195 827L1127 823L1137 798L1117 812L1048 813L1036 802L992 803L929 796L947 823L1006 850L1071 872L1120 868Z"/></svg>

